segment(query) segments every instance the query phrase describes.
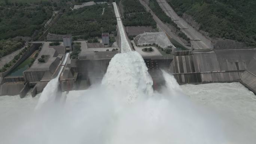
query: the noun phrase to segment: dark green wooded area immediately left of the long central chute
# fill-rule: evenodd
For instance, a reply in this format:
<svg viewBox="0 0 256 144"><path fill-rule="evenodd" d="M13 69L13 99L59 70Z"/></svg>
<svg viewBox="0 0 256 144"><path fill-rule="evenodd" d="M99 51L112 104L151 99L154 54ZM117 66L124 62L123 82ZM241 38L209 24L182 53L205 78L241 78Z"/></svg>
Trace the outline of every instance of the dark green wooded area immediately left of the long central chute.
<svg viewBox="0 0 256 144"><path fill-rule="evenodd" d="M116 23L112 5L95 4L65 12L50 29L50 33L84 35L88 39L101 36L103 32L115 32Z"/></svg>

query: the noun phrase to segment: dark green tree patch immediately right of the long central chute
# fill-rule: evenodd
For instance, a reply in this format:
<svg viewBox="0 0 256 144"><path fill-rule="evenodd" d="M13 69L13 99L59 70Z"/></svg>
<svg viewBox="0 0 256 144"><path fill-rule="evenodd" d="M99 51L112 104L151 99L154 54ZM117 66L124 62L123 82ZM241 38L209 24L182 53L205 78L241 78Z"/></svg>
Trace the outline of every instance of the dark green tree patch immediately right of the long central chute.
<svg viewBox="0 0 256 144"><path fill-rule="evenodd" d="M156 22L152 15L146 12L138 0L122 0L124 7L123 23L125 26L152 26L156 28Z"/></svg>

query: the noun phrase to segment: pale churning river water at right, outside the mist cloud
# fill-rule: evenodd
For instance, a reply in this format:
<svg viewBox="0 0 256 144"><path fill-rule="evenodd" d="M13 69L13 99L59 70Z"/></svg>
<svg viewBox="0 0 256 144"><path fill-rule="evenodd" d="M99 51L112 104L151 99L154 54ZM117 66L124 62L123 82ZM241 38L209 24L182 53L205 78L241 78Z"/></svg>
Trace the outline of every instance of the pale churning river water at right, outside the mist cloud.
<svg viewBox="0 0 256 144"><path fill-rule="evenodd" d="M256 96L239 82L182 85L196 104L217 111L226 122L223 131L232 143L256 141Z"/></svg>

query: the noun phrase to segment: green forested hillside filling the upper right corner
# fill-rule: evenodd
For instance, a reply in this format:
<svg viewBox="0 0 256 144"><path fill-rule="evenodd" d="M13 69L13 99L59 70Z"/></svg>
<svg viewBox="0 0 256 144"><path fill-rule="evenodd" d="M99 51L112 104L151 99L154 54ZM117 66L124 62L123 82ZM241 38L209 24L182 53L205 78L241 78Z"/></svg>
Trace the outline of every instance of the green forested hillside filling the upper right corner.
<svg viewBox="0 0 256 144"><path fill-rule="evenodd" d="M255 0L168 0L179 16L191 15L210 37L256 46Z"/></svg>

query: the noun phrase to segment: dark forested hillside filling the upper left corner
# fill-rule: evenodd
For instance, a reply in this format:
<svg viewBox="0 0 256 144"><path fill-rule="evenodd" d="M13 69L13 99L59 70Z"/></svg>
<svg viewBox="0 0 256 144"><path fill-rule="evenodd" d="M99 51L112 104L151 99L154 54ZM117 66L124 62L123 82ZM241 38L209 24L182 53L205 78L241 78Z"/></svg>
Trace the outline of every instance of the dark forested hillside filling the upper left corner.
<svg viewBox="0 0 256 144"><path fill-rule="evenodd" d="M51 1L0 1L0 58L24 45L23 40L12 38L33 35L33 39L37 39L45 23L51 18L53 10L56 9L59 9L57 3ZM37 33L34 33L35 31Z"/></svg>

